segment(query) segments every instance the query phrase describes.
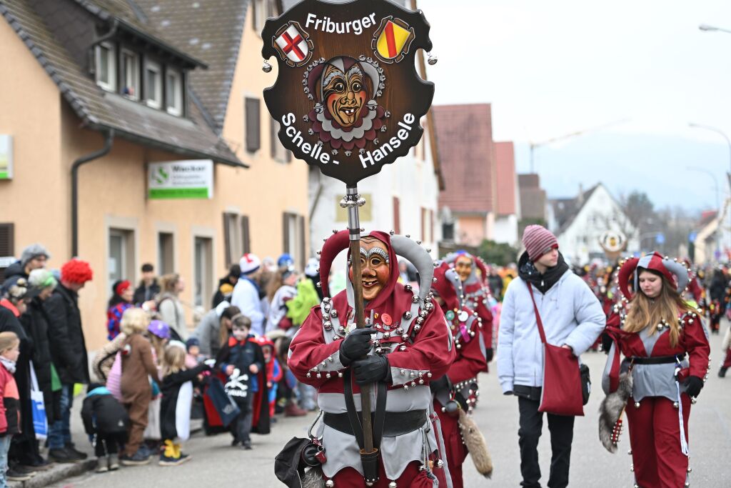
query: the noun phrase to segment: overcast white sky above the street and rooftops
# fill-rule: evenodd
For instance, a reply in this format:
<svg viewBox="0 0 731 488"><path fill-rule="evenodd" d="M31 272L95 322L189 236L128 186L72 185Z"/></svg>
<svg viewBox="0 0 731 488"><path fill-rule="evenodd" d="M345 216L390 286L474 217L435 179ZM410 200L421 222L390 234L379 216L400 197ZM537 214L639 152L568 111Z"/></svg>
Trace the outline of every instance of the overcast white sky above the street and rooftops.
<svg viewBox="0 0 731 488"><path fill-rule="evenodd" d="M607 176L613 192L644 189L661 206L715 205L712 177L686 168L720 180L728 146L688 123L731 136L731 34L698 29L731 30L730 0L418 4L439 56L435 104L491 102L493 138L519 145L610 124L537 149L550 196ZM528 159L519 146L519 170Z"/></svg>

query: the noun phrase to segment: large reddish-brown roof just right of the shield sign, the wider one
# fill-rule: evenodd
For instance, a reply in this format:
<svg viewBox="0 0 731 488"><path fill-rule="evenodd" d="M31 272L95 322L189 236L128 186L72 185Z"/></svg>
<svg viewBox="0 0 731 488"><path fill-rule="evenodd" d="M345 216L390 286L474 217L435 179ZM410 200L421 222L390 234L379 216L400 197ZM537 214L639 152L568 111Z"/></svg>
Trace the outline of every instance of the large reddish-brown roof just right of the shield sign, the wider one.
<svg viewBox="0 0 731 488"><path fill-rule="evenodd" d="M463 213L495 211L490 105L434 105L432 112L446 186L439 192L439 206Z"/></svg>

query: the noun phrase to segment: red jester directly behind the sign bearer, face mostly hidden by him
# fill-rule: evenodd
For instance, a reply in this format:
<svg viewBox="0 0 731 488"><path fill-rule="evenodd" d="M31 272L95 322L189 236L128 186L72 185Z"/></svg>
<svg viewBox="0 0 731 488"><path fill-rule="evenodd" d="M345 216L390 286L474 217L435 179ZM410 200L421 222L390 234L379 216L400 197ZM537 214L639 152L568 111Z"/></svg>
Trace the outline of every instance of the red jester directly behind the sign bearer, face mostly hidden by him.
<svg viewBox="0 0 731 488"><path fill-rule="evenodd" d="M482 320L477 313L462 304L462 283L454 269L442 263L434 271L432 285L435 300L444 312L455 343L455 361L447 374L431 383L434 411L444 438L447 468L452 487L461 488L462 464L468 449L459 425L459 409L472 410L477 398L477 375L488 366L485 339L481 333Z"/></svg>

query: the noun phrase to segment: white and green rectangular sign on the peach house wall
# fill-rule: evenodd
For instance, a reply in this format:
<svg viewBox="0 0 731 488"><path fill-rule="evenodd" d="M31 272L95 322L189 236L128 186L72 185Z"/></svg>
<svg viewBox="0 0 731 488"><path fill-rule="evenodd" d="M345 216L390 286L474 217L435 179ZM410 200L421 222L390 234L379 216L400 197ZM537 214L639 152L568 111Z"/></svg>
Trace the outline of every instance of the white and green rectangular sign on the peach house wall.
<svg viewBox="0 0 731 488"><path fill-rule="evenodd" d="M213 161L151 162L148 165L148 198L213 198Z"/></svg>

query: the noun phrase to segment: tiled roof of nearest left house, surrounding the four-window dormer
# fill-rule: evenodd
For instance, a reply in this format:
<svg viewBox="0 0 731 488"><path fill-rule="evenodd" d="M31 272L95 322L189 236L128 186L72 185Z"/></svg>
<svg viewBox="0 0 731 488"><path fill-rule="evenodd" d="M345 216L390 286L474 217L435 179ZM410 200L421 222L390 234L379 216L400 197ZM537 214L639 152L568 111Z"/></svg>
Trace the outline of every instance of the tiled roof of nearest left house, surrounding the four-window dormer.
<svg viewBox="0 0 731 488"><path fill-rule="evenodd" d="M124 1L81 1L83 7L107 4L121 8ZM53 4L59 10L75 8L68 0ZM128 15L129 11L125 15ZM148 108L96 86L91 75L58 42L44 20L26 0L0 0L0 15L50 75L73 110L91 129L114 129L115 135L189 157L242 165L231 149L208 126L200 110L190 104L189 119Z"/></svg>

